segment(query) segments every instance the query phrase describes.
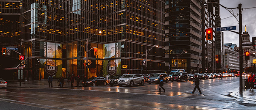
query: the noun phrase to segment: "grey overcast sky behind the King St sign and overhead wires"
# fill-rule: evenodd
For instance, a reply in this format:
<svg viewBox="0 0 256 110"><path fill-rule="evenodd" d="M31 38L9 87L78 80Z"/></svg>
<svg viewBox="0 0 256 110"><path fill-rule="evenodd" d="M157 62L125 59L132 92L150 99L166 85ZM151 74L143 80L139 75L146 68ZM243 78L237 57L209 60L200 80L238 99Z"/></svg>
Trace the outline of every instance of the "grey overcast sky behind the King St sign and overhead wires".
<svg viewBox="0 0 256 110"><path fill-rule="evenodd" d="M224 5L227 8L235 8L238 4L242 4L242 8L251 8L256 7L256 0L220 0L220 4ZM237 9L233 9L234 14L239 13ZM233 16L227 11L225 8L220 8L221 13L221 27L229 27L236 25L236 32L239 32L239 16L230 17L224 19L229 16ZM250 35L250 41L252 42L252 37L256 37L256 8L251 9L244 9L242 10L242 32L244 32L244 26L246 25L247 32ZM236 44L239 47L239 35L230 31L223 31L224 32L224 44L225 43L232 43Z"/></svg>

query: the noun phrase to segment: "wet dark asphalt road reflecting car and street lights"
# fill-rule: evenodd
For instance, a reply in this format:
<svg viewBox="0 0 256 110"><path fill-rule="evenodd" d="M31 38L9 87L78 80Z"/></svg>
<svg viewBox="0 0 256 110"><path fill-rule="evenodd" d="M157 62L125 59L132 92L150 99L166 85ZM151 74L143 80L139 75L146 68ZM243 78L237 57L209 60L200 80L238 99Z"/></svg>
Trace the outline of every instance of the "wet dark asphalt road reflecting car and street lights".
<svg viewBox="0 0 256 110"><path fill-rule="evenodd" d="M67 83L66 83L67 84ZM166 92L158 92L158 84L145 83L133 87L101 85L74 88L6 88L0 89L0 104L5 110L17 110L12 104L27 105L23 110L256 110L244 106L229 94L239 89L239 77L200 81L203 95L198 90L191 94L194 82L169 82ZM20 105L21 106L21 105ZM31 107L31 108L29 108ZM41 109L40 109L41 108Z"/></svg>

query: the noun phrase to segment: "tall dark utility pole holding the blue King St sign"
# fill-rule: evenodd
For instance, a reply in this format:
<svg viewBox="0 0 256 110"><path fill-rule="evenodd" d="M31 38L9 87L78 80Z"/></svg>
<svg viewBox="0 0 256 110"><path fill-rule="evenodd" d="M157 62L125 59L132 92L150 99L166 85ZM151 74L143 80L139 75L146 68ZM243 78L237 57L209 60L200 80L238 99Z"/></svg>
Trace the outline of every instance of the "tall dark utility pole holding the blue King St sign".
<svg viewBox="0 0 256 110"><path fill-rule="evenodd" d="M243 92L243 47L242 47L242 4L238 5L239 8L239 91Z"/></svg>

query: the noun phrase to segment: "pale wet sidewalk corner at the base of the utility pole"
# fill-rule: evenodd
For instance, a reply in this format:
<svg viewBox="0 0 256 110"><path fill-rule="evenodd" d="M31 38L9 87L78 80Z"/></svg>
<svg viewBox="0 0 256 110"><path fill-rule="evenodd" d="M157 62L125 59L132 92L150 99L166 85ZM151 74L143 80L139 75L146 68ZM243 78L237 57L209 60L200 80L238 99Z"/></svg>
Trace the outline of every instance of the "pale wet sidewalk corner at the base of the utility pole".
<svg viewBox="0 0 256 110"><path fill-rule="evenodd" d="M234 91L233 93L230 93L230 95L238 98L235 101L239 101L245 104L256 104L256 89L244 89L243 93L240 93L239 91Z"/></svg>

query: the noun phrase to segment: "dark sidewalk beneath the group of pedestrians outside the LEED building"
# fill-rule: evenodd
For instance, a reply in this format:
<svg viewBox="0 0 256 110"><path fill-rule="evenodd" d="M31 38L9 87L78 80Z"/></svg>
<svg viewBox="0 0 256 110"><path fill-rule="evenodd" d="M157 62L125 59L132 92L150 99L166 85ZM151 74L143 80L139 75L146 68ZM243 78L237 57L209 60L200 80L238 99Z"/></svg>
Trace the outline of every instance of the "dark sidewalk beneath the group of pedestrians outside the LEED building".
<svg viewBox="0 0 256 110"><path fill-rule="evenodd" d="M52 81L52 88L58 88L58 80L54 79ZM76 87L76 81L74 82L73 86ZM82 86L82 81L80 81L79 86ZM17 81L7 81L7 87L20 87L20 88L49 88L49 83L47 79L42 80L33 80L33 81L24 81L20 82ZM67 82L65 79L63 88L71 87L71 82Z"/></svg>

